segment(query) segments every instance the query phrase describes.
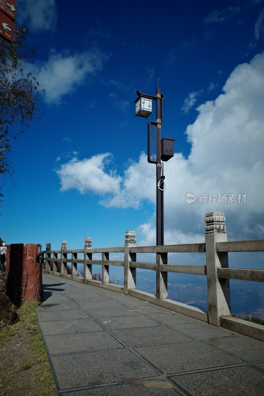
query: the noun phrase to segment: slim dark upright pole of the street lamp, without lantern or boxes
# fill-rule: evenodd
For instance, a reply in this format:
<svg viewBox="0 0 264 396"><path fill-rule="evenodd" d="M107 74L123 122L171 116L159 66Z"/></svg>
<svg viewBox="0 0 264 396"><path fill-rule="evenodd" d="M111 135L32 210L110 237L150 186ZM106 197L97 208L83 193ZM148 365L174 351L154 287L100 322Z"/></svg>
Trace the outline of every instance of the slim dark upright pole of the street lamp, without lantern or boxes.
<svg viewBox="0 0 264 396"><path fill-rule="evenodd" d="M162 99L160 97L160 88L157 87L156 90L156 114L157 114L157 161L156 164L156 244L164 245L164 203L163 203L163 191L158 189L158 182L161 177L161 158L160 158L160 129L161 129L161 118L162 118ZM163 185L160 186L163 188Z"/></svg>

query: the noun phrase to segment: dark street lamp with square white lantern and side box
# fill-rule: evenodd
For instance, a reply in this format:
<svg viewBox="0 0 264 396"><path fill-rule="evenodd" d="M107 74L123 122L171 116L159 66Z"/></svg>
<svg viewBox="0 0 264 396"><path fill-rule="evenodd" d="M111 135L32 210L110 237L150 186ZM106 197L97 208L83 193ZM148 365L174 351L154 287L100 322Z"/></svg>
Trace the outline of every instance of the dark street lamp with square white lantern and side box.
<svg viewBox="0 0 264 396"><path fill-rule="evenodd" d="M163 161L168 161L174 155L174 139L163 138L160 141L160 129L163 121L163 94L156 89L156 96L142 94L137 91L135 100L136 116L148 118L152 113L152 100L156 100L156 121L148 124L148 162L156 164L156 245L164 245L164 204L165 190Z"/></svg>

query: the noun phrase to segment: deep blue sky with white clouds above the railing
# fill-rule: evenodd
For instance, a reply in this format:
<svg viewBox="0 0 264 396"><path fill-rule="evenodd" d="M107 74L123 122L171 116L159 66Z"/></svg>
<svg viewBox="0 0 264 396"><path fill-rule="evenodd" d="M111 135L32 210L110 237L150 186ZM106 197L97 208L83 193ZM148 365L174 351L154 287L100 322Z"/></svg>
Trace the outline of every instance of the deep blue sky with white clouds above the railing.
<svg viewBox="0 0 264 396"><path fill-rule="evenodd" d="M7 244L156 243L155 165L136 91L164 99L165 244L264 238L264 1L17 1L40 82L40 121L12 143L1 180ZM186 194L196 200L186 202Z"/></svg>

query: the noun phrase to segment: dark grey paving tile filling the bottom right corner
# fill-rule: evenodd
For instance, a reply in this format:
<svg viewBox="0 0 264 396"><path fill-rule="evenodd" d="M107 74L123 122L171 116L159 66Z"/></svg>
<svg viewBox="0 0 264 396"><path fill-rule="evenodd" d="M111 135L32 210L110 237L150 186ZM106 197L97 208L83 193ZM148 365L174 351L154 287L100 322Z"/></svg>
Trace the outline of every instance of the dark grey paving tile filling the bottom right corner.
<svg viewBox="0 0 264 396"><path fill-rule="evenodd" d="M263 396L264 373L248 366L171 377L192 396Z"/></svg>

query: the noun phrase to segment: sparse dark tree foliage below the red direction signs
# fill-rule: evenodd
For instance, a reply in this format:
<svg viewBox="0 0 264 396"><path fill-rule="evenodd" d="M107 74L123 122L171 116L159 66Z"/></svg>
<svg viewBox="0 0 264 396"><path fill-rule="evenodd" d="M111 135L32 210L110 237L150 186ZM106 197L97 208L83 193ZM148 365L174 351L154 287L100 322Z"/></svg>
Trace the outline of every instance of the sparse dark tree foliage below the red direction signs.
<svg viewBox="0 0 264 396"><path fill-rule="evenodd" d="M27 33L24 26L15 22L14 42L0 38L0 175L13 172L8 157L12 140L39 116L39 83L30 72L24 71L34 55L34 49L27 47Z"/></svg>

